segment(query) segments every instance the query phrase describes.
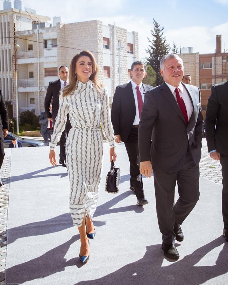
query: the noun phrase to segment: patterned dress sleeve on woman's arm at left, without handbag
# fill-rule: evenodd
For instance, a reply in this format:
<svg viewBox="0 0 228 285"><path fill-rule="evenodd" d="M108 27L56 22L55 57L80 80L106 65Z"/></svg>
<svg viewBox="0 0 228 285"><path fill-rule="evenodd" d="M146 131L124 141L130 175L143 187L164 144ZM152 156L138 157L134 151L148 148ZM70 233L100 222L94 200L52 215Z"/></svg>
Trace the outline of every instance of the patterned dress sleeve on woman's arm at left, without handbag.
<svg viewBox="0 0 228 285"><path fill-rule="evenodd" d="M66 125L66 115L68 114L68 103L66 96L62 96L62 91L59 94L59 109L58 109L58 115L54 124L54 132L51 136L52 141L49 143L50 149L54 150L56 147L56 144L60 140L60 137L62 135L62 132L65 129Z"/></svg>

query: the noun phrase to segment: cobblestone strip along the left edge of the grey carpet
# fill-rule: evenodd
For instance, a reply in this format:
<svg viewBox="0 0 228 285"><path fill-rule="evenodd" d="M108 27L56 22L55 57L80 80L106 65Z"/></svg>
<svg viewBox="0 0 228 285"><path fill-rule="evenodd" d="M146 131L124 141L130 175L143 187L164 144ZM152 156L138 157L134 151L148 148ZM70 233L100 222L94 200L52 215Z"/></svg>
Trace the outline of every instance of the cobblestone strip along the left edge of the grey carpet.
<svg viewBox="0 0 228 285"><path fill-rule="evenodd" d="M4 284L5 279L5 259L7 245L7 213L9 198L11 156L5 155L3 165L0 170L0 177L3 186L0 187L0 284Z"/></svg>

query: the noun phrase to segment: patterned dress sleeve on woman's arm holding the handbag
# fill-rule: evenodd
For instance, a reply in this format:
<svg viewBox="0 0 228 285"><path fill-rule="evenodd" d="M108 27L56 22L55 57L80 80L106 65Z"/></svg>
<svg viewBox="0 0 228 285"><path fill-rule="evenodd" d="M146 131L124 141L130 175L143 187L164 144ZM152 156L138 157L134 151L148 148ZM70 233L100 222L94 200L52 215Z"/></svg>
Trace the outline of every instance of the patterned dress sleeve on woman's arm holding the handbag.
<svg viewBox="0 0 228 285"><path fill-rule="evenodd" d="M110 148L115 147L115 137L114 137L114 131L113 126L110 119L110 107L109 107L109 97L107 89L104 88L104 95L103 95L103 108L102 108L102 115L101 115L101 124L102 124L102 130L103 134L106 137Z"/></svg>

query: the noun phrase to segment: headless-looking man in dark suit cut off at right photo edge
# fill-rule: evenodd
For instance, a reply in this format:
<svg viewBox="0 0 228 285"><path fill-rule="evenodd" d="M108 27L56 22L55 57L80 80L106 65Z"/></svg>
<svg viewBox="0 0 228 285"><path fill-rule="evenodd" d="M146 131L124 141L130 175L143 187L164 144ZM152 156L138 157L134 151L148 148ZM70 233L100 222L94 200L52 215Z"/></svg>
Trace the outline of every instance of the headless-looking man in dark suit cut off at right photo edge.
<svg viewBox="0 0 228 285"><path fill-rule="evenodd" d="M220 160L222 166L223 236L228 241L228 81L211 87L205 129L210 157Z"/></svg>

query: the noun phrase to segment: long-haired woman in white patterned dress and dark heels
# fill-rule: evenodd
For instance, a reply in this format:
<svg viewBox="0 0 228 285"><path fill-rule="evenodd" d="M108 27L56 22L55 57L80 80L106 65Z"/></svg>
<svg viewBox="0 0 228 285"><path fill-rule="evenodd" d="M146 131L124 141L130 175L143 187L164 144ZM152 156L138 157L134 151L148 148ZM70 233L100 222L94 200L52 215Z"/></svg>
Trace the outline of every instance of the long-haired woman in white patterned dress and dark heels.
<svg viewBox="0 0 228 285"><path fill-rule="evenodd" d="M59 95L59 110L50 145L49 159L56 165L55 147L69 114L72 129L66 141L66 165L70 179L70 213L81 240L79 259L89 259L89 241L95 236L92 222L99 196L103 161L102 130L110 146L110 161L116 160L114 132L109 115L107 89L97 80L94 56L83 51L72 59L70 80ZM86 215L87 214L87 215Z"/></svg>

